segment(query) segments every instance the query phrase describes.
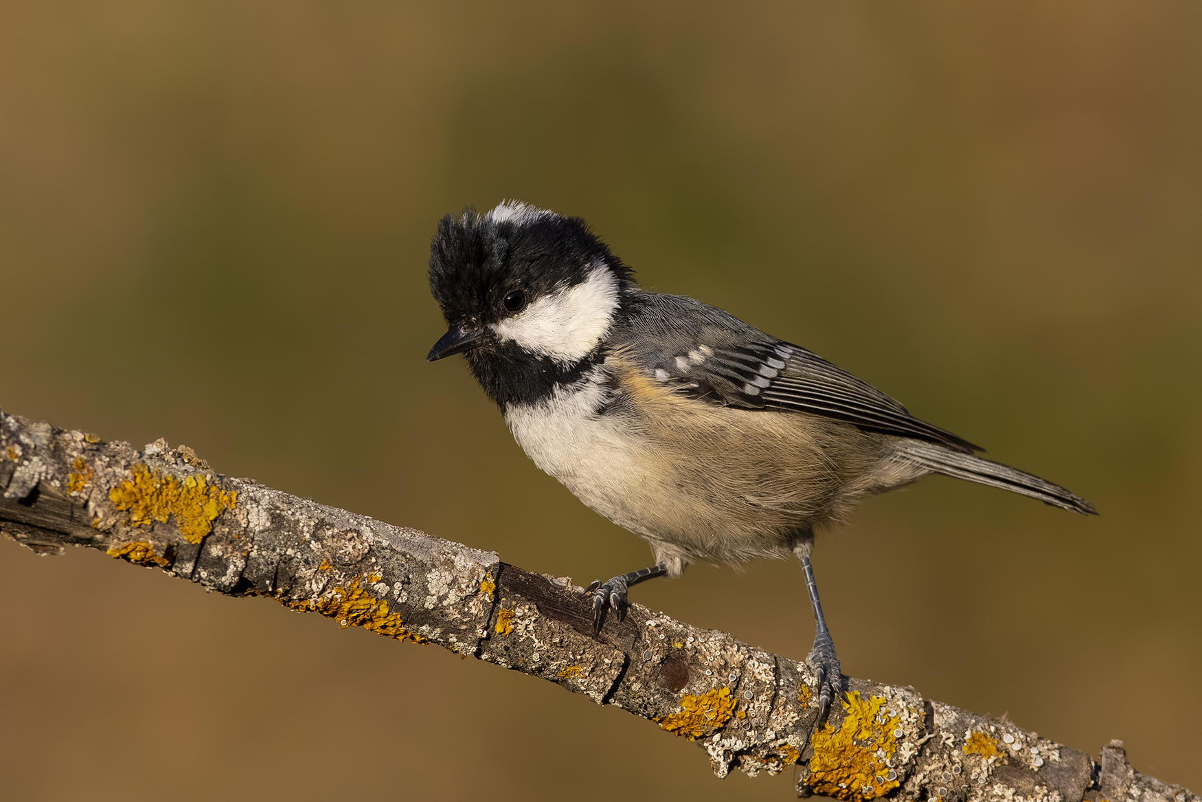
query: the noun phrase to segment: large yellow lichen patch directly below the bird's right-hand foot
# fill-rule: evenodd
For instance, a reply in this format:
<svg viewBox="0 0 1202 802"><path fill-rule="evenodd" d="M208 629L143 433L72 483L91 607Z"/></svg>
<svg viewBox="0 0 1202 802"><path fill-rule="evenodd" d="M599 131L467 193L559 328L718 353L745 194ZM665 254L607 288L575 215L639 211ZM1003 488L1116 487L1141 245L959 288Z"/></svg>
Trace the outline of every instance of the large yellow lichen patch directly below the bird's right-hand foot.
<svg viewBox="0 0 1202 802"><path fill-rule="evenodd" d="M885 761L897 750L893 735L897 723L881 713L885 702L883 696L862 701L858 690L844 694L843 708L847 715L843 726L833 730L827 723L811 739L814 756L805 784L815 794L837 800L874 800L900 785L895 779L886 779L889 767Z"/></svg>

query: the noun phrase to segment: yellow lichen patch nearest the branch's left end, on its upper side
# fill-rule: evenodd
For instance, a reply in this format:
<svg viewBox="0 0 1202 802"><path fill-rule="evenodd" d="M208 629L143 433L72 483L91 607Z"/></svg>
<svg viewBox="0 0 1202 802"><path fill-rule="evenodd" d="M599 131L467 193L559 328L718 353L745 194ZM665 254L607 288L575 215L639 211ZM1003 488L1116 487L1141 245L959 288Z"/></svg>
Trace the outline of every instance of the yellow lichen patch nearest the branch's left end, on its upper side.
<svg viewBox="0 0 1202 802"><path fill-rule="evenodd" d="M132 477L108 492L118 510L129 511L129 525L149 527L166 523L172 516L179 534L198 543L213 531L213 521L238 503L237 491L222 491L203 476L178 479L138 463Z"/></svg>

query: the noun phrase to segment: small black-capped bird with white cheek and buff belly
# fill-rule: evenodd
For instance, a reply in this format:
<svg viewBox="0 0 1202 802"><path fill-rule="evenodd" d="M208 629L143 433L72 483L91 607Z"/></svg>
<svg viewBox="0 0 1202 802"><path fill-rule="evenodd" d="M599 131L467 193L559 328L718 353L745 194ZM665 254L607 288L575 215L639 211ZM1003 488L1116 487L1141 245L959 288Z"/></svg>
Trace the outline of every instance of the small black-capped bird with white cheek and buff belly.
<svg viewBox="0 0 1202 802"><path fill-rule="evenodd" d="M593 582L593 630L630 587L694 562L801 563L807 664L822 720L843 689L810 560L815 533L867 495L928 474L1096 515L816 354L694 298L638 286L588 224L519 201L446 215L430 292L514 440L587 506L643 537L654 565Z"/></svg>

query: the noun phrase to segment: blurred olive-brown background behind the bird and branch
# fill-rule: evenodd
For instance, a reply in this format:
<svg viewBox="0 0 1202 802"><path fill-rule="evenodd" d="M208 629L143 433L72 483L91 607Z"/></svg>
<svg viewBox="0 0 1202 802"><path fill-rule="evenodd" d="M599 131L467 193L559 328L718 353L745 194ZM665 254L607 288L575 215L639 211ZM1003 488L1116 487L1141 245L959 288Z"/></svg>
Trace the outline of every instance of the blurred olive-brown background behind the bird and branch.
<svg viewBox="0 0 1202 802"><path fill-rule="evenodd" d="M438 219L587 218L1094 501L945 479L815 565L844 670L1202 786L1202 7L8 2L0 404L587 583L649 551L444 332ZM632 594L795 658L801 571ZM0 542L11 800L789 798L439 648Z"/></svg>

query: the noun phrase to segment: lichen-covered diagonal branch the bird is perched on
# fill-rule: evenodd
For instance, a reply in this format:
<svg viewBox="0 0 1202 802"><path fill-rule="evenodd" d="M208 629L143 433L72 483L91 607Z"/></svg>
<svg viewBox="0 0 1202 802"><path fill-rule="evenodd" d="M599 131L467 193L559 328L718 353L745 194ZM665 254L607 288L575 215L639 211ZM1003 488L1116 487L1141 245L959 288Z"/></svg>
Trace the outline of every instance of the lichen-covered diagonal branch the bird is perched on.
<svg viewBox="0 0 1202 802"><path fill-rule="evenodd" d="M696 741L719 777L801 764L798 791L841 800L1202 802L1135 772L1120 742L1084 753L847 678L831 723L803 663L632 605L599 637L565 580L493 552L218 474L186 446L136 451L0 411L0 530L41 554L67 543L157 566L228 595L264 596L340 626L438 643L620 707Z"/></svg>

